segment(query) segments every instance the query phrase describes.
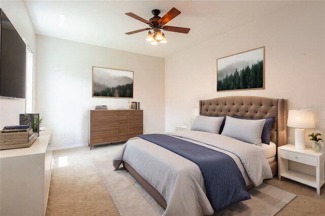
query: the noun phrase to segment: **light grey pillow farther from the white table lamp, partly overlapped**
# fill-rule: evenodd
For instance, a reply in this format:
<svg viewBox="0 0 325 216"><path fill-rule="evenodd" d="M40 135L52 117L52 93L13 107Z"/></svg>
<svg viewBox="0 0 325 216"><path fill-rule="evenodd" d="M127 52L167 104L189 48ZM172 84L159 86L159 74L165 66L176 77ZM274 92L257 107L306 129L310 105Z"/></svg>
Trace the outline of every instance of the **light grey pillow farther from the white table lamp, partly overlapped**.
<svg viewBox="0 0 325 216"><path fill-rule="evenodd" d="M191 130L219 133L223 119L223 117L198 116L195 119Z"/></svg>

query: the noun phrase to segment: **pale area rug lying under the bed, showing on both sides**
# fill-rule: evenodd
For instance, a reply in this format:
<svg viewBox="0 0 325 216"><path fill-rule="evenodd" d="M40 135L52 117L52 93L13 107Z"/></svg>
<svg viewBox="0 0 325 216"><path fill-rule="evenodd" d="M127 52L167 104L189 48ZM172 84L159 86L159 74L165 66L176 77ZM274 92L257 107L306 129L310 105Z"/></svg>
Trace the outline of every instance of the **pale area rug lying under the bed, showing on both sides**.
<svg viewBox="0 0 325 216"><path fill-rule="evenodd" d="M95 168L103 178L121 216L162 215L162 208L125 169L114 171L112 158L96 158ZM239 202L214 215L275 215L296 195L267 184L249 190L252 199Z"/></svg>

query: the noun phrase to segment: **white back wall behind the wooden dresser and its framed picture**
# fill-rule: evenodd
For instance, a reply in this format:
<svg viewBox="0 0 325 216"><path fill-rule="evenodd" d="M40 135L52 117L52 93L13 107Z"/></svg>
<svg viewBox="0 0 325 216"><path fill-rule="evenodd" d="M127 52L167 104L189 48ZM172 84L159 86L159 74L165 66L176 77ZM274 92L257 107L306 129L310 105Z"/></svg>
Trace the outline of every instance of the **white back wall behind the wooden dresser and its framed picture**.
<svg viewBox="0 0 325 216"><path fill-rule="evenodd" d="M144 133L165 131L165 59L37 35L37 112L53 147L87 145L87 111L140 101ZM134 98L91 97L92 66L134 71ZM61 134L65 138L61 139Z"/></svg>

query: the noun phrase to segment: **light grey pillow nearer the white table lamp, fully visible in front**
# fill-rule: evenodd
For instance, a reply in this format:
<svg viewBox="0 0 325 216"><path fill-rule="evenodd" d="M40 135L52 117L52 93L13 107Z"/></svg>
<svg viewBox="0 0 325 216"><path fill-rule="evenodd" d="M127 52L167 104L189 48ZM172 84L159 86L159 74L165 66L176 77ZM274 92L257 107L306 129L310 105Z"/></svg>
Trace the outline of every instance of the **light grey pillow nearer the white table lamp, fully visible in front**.
<svg viewBox="0 0 325 216"><path fill-rule="evenodd" d="M255 145L261 144L261 135L264 123L265 119L246 120L235 119L227 116L221 135L229 136Z"/></svg>

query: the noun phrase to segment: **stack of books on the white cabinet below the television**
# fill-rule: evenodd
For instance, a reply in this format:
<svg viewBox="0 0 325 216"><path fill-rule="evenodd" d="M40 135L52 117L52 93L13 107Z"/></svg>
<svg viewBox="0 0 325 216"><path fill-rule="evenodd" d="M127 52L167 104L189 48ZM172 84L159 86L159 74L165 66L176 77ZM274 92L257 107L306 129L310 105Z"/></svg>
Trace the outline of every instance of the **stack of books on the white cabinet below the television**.
<svg viewBox="0 0 325 216"><path fill-rule="evenodd" d="M0 130L0 150L30 147L36 139L29 125L6 126Z"/></svg>

